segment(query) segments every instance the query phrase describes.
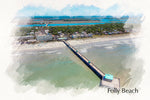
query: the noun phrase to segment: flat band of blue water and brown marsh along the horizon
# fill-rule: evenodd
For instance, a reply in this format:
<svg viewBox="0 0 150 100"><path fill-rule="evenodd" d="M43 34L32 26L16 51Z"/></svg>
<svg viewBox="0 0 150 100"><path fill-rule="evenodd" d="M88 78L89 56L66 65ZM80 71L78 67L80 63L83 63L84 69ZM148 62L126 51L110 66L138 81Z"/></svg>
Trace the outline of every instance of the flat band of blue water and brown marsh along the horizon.
<svg viewBox="0 0 150 100"><path fill-rule="evenodd" d="M128 19L130 23L140 24L141 16L30 16L16 17L14 22L17 22L21 27L33 26L73 26L73 25L97 25L105 23L125 23Z"/></svg>

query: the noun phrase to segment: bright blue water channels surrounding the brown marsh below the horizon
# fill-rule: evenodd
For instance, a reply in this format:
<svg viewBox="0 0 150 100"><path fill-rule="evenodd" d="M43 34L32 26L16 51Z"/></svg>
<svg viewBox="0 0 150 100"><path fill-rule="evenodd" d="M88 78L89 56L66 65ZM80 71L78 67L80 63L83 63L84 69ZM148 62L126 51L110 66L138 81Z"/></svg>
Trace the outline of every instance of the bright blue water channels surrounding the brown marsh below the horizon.
<svg viewBox="0 0 150 100"><path fill-rule="evenodd" d="M78 19L78 20L96 20L99 21L97 23L59 23L59 24L48 24L47 26L73 26L73 25L97 25L97 24L105 24L105 23L125 23L128 20L128 23L132 24L140 24L142 16L131 17L130 20L129 16L122 16L121 18L115 18L112 16L34 16L32 20L38 22L45 20L69 20L69 19ZM38 22L39 23L39 22ZM46 24L32 24L32 25L18 25L19 27L34 27L34 26L46 26Z"/></svg>

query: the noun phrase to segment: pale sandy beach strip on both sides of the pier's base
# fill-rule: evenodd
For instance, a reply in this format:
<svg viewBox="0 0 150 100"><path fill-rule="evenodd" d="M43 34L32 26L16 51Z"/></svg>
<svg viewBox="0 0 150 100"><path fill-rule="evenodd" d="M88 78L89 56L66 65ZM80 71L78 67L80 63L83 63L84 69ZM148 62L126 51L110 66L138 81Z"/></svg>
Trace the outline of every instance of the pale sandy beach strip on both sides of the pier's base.
<svg viewBox="0 0 150 100"><path fill-rule="evenodd" d="M103 42L103 41L132 39L136 37L138 36L134 34L120 34L120 35L101 36L101 37L96 37L96 38L74 39L74 40L67 40L67 41L72 46L76 46L76 45L84 45L84 44ZM34 50L35 51L52 50L52 49L59 49L62 47L65 47L65 44L61 41L44 42L44 43L37 43L37 44L23 44L23 45L13 46L13 52L34 51Z"/></svg>

